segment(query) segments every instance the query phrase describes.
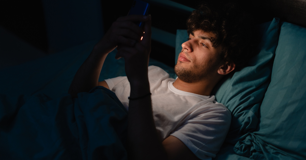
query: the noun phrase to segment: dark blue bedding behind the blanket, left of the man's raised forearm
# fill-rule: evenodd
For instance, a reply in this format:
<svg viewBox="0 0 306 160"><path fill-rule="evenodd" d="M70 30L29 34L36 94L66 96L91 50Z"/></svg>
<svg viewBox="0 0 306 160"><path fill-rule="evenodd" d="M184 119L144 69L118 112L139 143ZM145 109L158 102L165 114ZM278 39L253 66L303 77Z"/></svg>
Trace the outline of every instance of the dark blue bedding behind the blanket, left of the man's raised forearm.
<svg viewBox="0 0 306 160"><path fill-rule="evenodd" d="M68 92L76 71L90 54L95 41L0 70L0 93L8 96L36 93L58 98ZM23 53L20 53L23 54Z"/></svg>

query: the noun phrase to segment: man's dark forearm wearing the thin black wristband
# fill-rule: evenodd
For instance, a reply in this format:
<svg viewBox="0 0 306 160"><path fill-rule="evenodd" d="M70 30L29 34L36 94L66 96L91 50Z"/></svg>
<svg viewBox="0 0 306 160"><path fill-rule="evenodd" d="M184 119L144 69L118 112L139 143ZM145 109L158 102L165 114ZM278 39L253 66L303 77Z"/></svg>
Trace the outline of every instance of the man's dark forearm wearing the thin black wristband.
<svg viewBox="0 0 306 160"><path fill-rule="evenodd" d="M131 98L150 93L148 80L131 83ZM166 151L157 134L153 119L151 96L129 101L129 159L166 159Z"/></svg>

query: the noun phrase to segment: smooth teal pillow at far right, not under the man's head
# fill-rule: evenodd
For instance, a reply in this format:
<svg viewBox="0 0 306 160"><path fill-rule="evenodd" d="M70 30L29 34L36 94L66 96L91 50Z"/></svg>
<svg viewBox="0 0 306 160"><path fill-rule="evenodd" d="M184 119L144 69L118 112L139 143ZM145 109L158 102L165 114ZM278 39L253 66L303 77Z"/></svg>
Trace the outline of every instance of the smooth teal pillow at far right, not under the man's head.
<svg viewBox="0 0 306 160"><path fill-rule="evenodd" d="M306 159L305 44L306 28L282 24L260 124L237 143L236 153L253 159Z"/></svg>

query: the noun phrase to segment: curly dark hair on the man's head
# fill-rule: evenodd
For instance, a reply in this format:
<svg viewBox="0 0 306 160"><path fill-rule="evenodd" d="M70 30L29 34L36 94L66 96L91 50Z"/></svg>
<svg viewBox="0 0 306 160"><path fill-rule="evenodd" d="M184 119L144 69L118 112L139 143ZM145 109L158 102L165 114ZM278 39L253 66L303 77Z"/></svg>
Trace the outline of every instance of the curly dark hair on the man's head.
<svg viewBox="0 0 306 160"><path fill-rule="evenodd" d="M196 30L211 32L213 47L221 45L220 58L234 63L236 68L246 65L255 55L255 24L252 18L232 2L208 5L202 3L187 20L188 35Z"/></svg>

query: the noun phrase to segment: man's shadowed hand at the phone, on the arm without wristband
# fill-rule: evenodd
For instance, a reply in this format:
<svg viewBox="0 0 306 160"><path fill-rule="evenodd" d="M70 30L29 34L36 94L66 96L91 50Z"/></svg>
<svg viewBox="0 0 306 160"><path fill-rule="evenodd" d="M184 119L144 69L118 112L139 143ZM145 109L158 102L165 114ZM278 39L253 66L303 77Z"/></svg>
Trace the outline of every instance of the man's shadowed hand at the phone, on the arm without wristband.
<svg viewBox="0 0 306 160"><path fill-rule="evenodd" d="M129 15L118 18L101 41L95 45L95 52L105 54L113 51L118 45L134 46L136 42L140 41L143 31L133 22L147 20L148 17L142 15Z"/></svg>

